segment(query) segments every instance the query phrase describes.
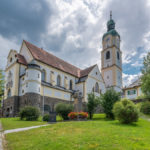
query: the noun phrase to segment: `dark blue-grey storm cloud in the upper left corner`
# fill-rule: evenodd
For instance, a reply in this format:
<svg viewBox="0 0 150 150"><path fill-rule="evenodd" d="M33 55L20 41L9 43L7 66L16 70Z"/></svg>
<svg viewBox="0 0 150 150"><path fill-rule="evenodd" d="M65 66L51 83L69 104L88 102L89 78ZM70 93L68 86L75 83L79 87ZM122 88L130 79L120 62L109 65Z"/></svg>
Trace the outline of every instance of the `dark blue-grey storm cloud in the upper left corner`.
<svg viewBox="0 0 150 150"><path fill-rule="evenodd" d="M0 0L0 34L5 38L40 38L52 10L45 0Z"/></svg>

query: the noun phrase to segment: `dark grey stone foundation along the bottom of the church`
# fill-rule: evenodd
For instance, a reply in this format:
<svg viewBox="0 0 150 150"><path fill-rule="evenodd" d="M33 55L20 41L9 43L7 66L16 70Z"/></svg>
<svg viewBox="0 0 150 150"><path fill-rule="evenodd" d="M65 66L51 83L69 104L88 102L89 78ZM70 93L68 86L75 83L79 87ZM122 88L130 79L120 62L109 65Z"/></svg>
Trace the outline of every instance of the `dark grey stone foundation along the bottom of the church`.
<svg viewBox="0 0 150 150"><path fill-rule="evenodd" d="M25 106L34 106L43 111L43 101L44 105L49 108L49 111L55 111L55 106L57 103L63 102L68 104L74 104L74 101L66 101L62 99L41 96L35 93L27 93L23 96L13 96L7 98L3 101L2 116L3 117L15 117L21 108ZM45 111L46 112L46 111Z"/></svg>

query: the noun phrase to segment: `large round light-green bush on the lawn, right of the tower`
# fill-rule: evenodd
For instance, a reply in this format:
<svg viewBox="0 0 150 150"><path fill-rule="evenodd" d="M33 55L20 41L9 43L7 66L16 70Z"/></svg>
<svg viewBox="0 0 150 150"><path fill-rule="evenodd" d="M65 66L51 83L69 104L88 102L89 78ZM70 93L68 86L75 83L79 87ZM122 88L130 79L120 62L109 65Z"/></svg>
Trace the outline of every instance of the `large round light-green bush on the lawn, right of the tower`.
<svg viewBox="0 0 150 150"><path fill-rule="evenodd" d="M137 122L139 117L137 107L128 99L116 102L113 107L113 113L117 120L125 124Z"/></svg>

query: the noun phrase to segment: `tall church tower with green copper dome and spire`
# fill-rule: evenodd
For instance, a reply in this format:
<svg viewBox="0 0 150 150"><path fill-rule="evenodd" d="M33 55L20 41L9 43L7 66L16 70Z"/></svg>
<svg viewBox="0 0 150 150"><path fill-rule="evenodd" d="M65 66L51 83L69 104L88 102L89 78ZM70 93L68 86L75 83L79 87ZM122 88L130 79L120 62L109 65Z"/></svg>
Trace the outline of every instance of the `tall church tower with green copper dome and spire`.
<svg viewBox="0 0 150 150"><path fill-rule="evenodd" d="M117 92L122 91L122 52L120 50L120 35L115 30L115 22L110 12L107 22L107 32L102 38L101 72L106 88L113 87Z"/></svg>

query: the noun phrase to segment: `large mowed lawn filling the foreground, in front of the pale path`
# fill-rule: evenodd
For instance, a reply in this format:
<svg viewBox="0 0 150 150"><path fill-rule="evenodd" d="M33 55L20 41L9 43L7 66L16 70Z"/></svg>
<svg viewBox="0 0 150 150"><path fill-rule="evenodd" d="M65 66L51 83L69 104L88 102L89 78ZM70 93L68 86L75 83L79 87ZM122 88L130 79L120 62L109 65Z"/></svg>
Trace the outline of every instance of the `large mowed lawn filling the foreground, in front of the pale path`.
<svg viewBox="0 0 150 150"><path fill-rule="evenodd" d="M150 122L132 125L96 115L93 121L59 122L6 134L8 150L150 150Z"/></svg>

